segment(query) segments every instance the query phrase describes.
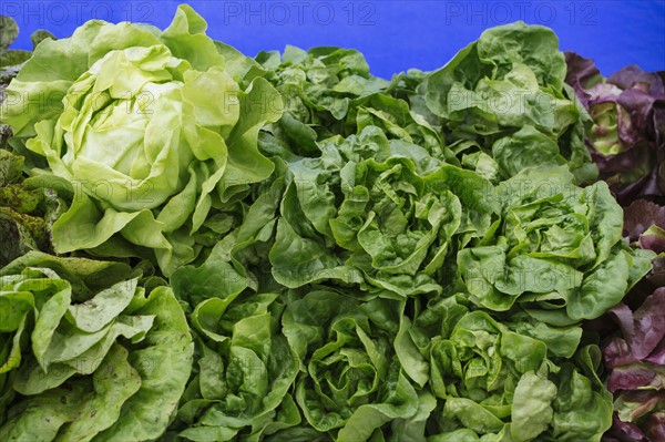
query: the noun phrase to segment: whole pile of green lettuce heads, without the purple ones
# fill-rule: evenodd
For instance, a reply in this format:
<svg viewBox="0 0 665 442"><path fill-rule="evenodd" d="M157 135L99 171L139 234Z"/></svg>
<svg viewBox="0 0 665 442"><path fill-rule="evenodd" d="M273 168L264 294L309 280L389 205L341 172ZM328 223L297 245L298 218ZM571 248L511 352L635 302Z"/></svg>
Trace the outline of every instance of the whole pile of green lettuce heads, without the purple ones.
<svg viewBox="0 0 665 442"><path fill-rule="evenodd" d="M0 270L0 439L600 441L583 323L655 253L596 182L554 33L386 81L205 29L91 21L8 86L44 237Z"/></svg>

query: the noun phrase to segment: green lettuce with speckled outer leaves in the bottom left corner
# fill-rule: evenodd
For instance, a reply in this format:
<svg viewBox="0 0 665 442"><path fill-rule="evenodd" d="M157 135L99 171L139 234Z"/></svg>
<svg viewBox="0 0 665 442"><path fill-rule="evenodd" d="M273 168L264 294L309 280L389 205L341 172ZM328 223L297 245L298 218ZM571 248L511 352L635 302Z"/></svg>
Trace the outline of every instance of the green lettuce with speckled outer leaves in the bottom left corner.
<svg viewBox="0 0 665 442"><path fill-rule="evenodd" d="M0 439L161 436L192 369L185 316L121 263L30 251L0 270Z"/></svg>

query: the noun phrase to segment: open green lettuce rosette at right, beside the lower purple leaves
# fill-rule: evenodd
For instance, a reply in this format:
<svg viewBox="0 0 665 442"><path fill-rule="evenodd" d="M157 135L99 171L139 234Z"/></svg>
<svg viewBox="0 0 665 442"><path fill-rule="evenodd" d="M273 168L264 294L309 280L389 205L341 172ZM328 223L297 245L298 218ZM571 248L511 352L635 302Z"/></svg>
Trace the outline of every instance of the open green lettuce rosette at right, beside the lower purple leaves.
<svg viewBox="0 0 665 442"><path fill-rule="evenodd" d="M600 317L651 269L653 254L622 239L623 212L603 182L575 186L565 166L525 168L497 188L501 218L459 251L477 305L515 304L549 323Z"/></svg>

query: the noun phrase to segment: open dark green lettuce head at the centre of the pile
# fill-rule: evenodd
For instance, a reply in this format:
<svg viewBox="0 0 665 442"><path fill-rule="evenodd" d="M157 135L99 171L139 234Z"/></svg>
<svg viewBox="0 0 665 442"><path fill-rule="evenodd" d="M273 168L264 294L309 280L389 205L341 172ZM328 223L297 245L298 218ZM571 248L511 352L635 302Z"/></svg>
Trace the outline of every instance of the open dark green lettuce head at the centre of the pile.
<svg viewBox="0 0 665 442"><path fill-rule="evenodd" d="M269 253L284 286L338 280L367 282L388 296L440 292L436 279L457 236L469 241L490 227L487 179L388 140L377 126L324 140L318 148L318 157L286 157Z"/></svg>

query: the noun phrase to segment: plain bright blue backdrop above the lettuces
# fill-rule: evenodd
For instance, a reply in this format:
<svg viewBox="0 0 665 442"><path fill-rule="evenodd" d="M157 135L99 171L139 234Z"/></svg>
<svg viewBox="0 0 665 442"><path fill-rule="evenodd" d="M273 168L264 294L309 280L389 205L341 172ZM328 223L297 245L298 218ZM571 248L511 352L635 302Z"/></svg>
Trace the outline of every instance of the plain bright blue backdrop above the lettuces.
<svg viewBox="0 0 665 442"><path fill-rule="evenodd" d="M31 49L40 28L70 35L89 19L141 21L165 28L181 1L3 0L21 35L12 48ZM515 20L548 25L561 50L596 61L610 75L626 64L665 70L665 0L651 1L190 1L208 34L247 55L260 50L338 45L360 50L372 73L389 78L409 68L432 70L493 25Z"/></svg>

